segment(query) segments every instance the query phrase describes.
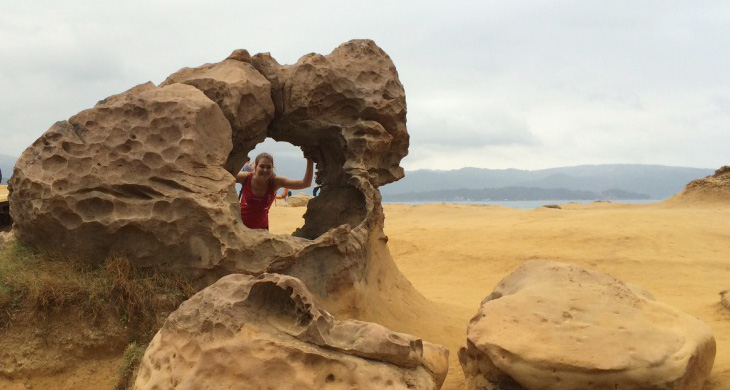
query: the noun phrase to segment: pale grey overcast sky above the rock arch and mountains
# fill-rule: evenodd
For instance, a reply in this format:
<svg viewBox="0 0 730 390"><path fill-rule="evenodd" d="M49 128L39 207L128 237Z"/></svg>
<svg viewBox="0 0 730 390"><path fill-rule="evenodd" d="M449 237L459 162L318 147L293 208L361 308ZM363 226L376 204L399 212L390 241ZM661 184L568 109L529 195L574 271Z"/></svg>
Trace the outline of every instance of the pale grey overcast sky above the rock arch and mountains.
<svg viewBox="0 0 730 390"><path fill-rule="evenodd" d="M406 90L406 170L730 164L727 1L0 0L0 154L231 51L354 38Z"/></svg>

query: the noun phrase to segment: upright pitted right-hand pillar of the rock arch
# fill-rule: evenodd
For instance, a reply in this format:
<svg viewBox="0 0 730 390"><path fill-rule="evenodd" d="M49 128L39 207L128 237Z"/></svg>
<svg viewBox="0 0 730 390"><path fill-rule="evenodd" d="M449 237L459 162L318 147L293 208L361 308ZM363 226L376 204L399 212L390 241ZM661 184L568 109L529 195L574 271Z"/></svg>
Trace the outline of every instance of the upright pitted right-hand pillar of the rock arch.
<svg viewBox="0 0 730 390"><path fill-rule="evenodd" d="M271 137L323 146L313 151L322 191L295 235L314 238L347 224L367 236L383 220L377 187L403 177L398 164L408 153L405 91L393 62L372 41L358 40L327 56L308 54L276 75L283 103L275 105L283 111Z"/></svg>

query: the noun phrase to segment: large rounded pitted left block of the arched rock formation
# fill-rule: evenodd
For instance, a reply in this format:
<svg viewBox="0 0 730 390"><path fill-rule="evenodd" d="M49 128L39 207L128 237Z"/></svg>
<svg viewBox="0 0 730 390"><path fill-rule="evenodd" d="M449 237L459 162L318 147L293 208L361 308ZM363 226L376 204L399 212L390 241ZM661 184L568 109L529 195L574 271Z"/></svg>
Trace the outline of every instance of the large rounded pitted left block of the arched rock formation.
<svg viewBox="0 0 730 390"><path fill-rule="evenodd" d="M198 89L151 83L54 124L11 179L18 240L102 261L215 264L232 245L231 128Z"/></svg>

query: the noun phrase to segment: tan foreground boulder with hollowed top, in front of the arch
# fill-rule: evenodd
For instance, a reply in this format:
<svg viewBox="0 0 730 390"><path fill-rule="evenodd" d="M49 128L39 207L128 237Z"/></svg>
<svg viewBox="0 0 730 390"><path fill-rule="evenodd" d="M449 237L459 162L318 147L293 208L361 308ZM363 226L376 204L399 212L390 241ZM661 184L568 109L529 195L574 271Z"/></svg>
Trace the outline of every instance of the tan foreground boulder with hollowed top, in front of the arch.
<svg viewBox="0 0 730 390"><path fill-rule="evenodd" d="M438 389L448 350L337 321L293 277L229 275L172 313L134 388Z"/></svg>

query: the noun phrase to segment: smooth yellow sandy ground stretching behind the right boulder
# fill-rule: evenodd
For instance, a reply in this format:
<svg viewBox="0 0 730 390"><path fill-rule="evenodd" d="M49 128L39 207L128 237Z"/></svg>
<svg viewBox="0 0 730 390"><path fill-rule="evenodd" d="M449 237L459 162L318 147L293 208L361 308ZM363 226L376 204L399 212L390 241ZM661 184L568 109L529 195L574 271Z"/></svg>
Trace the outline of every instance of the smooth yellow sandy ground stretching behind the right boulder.
<svg viewBox="0 0 730 390"><path fill-rule="evenodd" d="M730 204L562 204L513 209L463 204L387 204L385 232L398 268L430 306L398 321L373 318L447 346L444 389L463 388L456 352L481 300L530 259L607 272L710 325L717 356L705 390L730 390ZM272 233L303 224L304 208L273 207ZM395 303L404 310L418 306ZM415 300L415 299L414 299Z"/></svg>

